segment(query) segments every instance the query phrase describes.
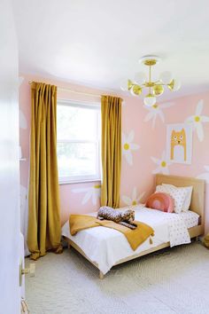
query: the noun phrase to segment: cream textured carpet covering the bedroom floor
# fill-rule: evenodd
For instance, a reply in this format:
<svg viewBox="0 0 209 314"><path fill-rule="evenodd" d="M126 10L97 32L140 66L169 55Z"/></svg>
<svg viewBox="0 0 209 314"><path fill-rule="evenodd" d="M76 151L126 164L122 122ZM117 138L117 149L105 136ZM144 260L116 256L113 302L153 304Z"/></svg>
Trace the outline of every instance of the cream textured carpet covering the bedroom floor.
<svg viewBox="0 0 209 314"><path fill-rule="evenodd" d="M208 314L209 250L199 243L173 247L116 266L100 280L93 265L66 249L36 262L26 293L31 314Z"/></svg>

